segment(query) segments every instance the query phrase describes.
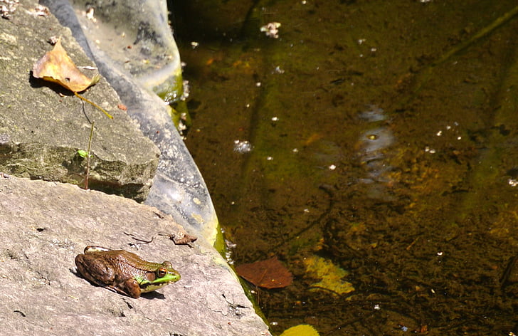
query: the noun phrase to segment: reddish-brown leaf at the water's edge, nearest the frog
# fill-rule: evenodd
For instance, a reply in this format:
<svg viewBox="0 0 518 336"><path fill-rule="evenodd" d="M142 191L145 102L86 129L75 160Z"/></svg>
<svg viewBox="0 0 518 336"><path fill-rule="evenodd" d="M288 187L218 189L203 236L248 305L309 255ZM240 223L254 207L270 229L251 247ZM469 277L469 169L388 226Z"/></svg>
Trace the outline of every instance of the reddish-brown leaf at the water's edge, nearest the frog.
<svg viewBox="0 0 518 336"><path fill-rule="evenodd" d="M243 263L236 267L241 277L263 288L284 288L293 282L293 275L282 263L273 257L255 263Z"/></svg>

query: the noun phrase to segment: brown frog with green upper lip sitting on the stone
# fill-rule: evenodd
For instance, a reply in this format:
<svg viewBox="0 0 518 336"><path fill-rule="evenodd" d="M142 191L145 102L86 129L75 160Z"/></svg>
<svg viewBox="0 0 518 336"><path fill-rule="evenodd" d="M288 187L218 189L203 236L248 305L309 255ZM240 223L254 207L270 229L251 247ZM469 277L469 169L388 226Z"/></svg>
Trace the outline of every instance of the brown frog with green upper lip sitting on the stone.
<svg viewBox="0 0 518 336"><path fill-rule="evenodd" d="M75 266L91 283L132 298L180 280L169 261L150 263L134 253L102 246L86 246L85 254L75 257Z"/></svg>

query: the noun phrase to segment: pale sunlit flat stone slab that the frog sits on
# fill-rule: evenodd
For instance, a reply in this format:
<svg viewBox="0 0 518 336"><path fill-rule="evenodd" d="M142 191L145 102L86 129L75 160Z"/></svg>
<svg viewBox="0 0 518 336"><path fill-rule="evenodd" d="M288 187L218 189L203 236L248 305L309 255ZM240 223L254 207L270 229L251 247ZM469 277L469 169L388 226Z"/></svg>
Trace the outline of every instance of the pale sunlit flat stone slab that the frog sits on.
<svg viewBox="0 0 518 336"><path fill-rule="evenodd" d="M8 335L270 335L211 244L159 236L183 229L155 208L11 177L0 179L0 226L0 329ZM74 258L87 245L169 260L181 280L139 299L112 293L78 275Z"/></svg>

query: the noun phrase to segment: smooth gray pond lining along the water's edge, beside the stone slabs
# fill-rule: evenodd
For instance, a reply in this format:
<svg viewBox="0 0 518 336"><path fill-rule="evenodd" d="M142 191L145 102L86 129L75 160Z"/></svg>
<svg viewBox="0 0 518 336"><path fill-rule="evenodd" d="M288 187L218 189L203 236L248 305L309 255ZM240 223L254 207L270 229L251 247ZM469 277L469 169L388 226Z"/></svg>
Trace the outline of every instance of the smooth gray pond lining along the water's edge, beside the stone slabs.
<svg viewBox="0 0 518 336"><path fill-rule="evenodd" d="M146 204L216 243L218 219L198 167L176 130L166 100L181 93L178 49L162 1L43 0L117 90L127 113L160 149ZM86 17L93 9L95 22Z"/></svg>

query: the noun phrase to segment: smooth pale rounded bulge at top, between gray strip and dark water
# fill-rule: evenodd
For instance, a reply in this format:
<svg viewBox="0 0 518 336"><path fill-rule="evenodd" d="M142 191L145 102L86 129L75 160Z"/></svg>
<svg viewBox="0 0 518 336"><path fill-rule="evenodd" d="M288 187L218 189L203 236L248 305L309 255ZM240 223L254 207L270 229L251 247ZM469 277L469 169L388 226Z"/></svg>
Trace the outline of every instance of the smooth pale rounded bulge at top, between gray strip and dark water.
<svg viewBox="0 0 518 336"><path fill-rule="evenodd" d="M95 48L142 87L167 102L178 99L181 64L167 23L166 1L73 0L70 3L89 45L95 43Z"/></svg>

